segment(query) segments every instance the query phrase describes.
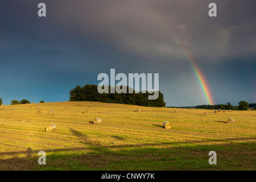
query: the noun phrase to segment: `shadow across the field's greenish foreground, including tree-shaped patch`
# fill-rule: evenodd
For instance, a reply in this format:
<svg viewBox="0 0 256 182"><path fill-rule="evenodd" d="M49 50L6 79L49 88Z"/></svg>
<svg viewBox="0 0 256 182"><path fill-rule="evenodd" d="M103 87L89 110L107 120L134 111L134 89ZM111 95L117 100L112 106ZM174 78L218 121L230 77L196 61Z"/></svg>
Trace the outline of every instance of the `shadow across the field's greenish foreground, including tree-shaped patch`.
<svg viewBox="0 0 256 182"><path fill-rule="evenodd" d="M70 131L79 142L92 142L80 131ZM86 143L80 148L42 148L46 152L46 165L39 165L39 151L28 147L26 151L0 152L0 170L252 170L255 169L255 142L256 138L250 137L112 146ZM208 163L208 153L212 150L217 152L218 165ZM18 154L26 157L20 158Z"/></svg>

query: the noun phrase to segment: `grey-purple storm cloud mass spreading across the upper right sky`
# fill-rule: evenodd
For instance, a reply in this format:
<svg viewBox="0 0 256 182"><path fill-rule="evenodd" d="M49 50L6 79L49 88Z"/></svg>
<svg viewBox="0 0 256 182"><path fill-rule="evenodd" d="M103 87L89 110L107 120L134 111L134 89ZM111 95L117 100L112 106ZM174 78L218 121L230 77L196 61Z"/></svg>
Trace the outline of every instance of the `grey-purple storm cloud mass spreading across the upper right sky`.
<svg viewBox="0 0 256 182"><path fill-rule="evenodd" d="M52 7L56 23L144 57L184 59L174 36L200 60L255 54L255 1L64 1ZM216 60L217 61L217 60Z"/></svg>

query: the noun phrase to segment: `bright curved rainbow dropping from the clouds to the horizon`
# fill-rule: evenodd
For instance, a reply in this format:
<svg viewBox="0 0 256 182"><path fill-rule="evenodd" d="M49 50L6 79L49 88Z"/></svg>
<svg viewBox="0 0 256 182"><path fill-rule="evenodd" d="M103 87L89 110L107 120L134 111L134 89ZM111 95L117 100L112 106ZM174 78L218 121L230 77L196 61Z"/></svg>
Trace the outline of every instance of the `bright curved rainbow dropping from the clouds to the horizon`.
<svg viewBox="0 0 256 182"><path fill-rule="evenodd" d="M172 28L170 26L168 26L168 24L164 21L164 19L161 16L159 16L157 13L155 13L154 10L150 9L150 7L148 7L146 5L146 3L143 3L143 4L151 12L151 14L154 16L154 18L156 18L160 23L163 24L163 26L165 26L168 29L168 31L171 32L172 37L175 39L177 44L181 47L181 49L184 52L184 55L188 58L189 64L191 65L193 72L195 73L195 76L197 78L197 81L199 82L200 88L204 94L207 104L214 105L212 93L210 93L210 89L207 84L207 81L206 81L203 73L200 71L199 67L197 67L195 60L193 59L191 53L189 53L188 49L185 48L184 44L180 41L179 36L177 36L175 34L175 32L172 31Z"/></svg>

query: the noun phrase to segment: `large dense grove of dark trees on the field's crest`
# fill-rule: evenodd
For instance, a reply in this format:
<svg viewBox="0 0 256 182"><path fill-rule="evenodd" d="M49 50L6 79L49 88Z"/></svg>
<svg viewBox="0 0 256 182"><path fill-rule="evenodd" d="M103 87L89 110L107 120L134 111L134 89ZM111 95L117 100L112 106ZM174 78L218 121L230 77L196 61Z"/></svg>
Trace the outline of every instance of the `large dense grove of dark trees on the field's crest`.
<svg viewBox="0 0 256 182"><path fill-rule="evenodd" d="M72 89L69 93L70 101L97 101L97 102L106 102L106 103L118 103L118 104L130 104L130 105L139 105L139 106L150 106L150 107L164 107L166 103L163 100L163 93L159 91L159 97L156 100L148 100L150 93L128 93L128 90L131 89L127 87L127 93L98 93L97 85L85 85L81 87L79 85L76 88ZM116 87L115 87L116 88ZM122 86L120 87L122 89ZM116 90L116 89L115 89Z"/></svg>

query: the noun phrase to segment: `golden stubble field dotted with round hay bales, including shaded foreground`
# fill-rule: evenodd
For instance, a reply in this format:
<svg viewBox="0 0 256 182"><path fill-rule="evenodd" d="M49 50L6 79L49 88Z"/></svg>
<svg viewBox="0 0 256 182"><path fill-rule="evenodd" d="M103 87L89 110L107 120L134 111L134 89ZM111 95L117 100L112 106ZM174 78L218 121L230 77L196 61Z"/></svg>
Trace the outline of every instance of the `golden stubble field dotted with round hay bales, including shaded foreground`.
<svg viewBox="0 0 256 182"><path fill-rule="evenodd" d="M174 113L99 102L40 106L41 114L34 104L0 106L0 170L256 169L256 111ZM94 118L102 123L94 125ZM226 123L229 118L235 122ZM172 129L163 128L165 121ZM50 123L57 126L53 133L44 130ZM39 151L46 152L46 165L38 164ZM217 152L217 165L208 163L209 151Z"/></svg>

